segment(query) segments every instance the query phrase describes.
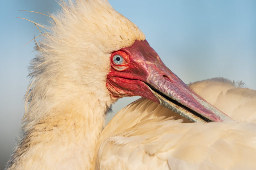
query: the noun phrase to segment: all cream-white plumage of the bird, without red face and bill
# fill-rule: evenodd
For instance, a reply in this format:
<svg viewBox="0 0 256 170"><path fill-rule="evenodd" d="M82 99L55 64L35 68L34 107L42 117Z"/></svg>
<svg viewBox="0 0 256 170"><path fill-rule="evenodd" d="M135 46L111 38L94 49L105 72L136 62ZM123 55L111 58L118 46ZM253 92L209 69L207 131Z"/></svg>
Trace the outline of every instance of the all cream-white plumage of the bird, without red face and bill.
<svg viewBox="0 0 256 170"><path fill-rule="evenodd" d="M60 5L36 45L23 136L6 169L256 167L252 123L182 123L172 111L140 99L102 131L104 114L116 101L106 87L109 58L145 36L105 0ZM190 87L234 120L255 121L255 90L227 80Z"/></svg>

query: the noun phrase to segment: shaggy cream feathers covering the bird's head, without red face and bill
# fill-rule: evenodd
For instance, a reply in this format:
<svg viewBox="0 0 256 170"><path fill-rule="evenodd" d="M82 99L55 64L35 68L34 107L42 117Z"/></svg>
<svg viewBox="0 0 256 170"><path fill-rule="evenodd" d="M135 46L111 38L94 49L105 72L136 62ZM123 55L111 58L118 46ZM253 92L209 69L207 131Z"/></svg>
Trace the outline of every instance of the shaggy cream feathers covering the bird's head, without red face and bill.
<svg viewBox="0 0 256 170"><path fill-rule="evenodd" d="M38 54L30 63L26 126L41 119L42 109L47 114L53 104L71 97L92 93L102 103L112 104L106 102L111 99L105 86L111 53L131 46L135 40L145 40L141 30L106 0L58 3L61 9L49 15L51 25L43 26L47 31L36 42Z"/></svg>

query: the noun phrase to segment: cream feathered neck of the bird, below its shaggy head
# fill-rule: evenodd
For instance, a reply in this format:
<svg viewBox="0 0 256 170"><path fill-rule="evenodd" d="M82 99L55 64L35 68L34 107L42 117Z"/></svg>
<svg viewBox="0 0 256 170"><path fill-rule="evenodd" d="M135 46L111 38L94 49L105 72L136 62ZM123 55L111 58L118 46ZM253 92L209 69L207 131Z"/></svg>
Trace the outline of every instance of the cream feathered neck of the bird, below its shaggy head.
<svg viewBox="0 0 256 170"><path fill-rule="evenodd" d="M20 144L24 146L20 148L25 145L28 148L25 149L26 156L23 158L35 158L34 162L43 163L44 167L49 165L49 169L89 169L98 137L104 126L104 114L111 101L106 100L108 97L99 98L90 91L87 94L81 94L81 91L76 92L73 89L52 91L56 94L36 102L40 104L40 109L35 114L41 112L41 116L25 126L25 137ZM33 118L31 117L32 113L27 120ZM35 153L38 155L35 156ZM25 165L23 168L31 169Z"/></svg>

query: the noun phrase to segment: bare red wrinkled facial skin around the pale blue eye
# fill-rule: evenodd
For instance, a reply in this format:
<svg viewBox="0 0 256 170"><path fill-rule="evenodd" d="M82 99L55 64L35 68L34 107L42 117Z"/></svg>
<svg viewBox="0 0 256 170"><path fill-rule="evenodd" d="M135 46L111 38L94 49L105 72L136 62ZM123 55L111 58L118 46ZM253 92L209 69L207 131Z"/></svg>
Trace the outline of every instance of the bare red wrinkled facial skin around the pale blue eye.
<svg viewBox="0 0 256 170"><path fill-rule="evenodd" d="M141 54L140 51L147 53L147 55ZM113 56L116 54L121 55L126 63L121 65L115 64ZM145 56L148 55L155 59L155 61L160 59L146 40L136 40L131 47L122 48L112 53L110 57L111 69L107 76L106 86L113 99L124 96L142 96L159 103L158 99L144 83L148 77L147 60L145 59ZM117 67L125 69L118 71Z"/></svg>

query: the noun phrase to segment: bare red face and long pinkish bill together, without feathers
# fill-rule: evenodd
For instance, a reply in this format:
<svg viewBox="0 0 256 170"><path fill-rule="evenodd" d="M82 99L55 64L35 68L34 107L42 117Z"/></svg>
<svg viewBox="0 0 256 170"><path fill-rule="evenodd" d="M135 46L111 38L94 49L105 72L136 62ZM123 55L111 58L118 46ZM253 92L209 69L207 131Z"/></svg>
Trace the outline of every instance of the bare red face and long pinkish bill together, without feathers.
<svg viewBox="0 0 256 170"><path fill-rule="evenodd" d="M113 67L107 76L107 88L113 98L142 96L194 122L232 120L209 104L170 71L146 40L112 54L126 61L120 69Z"/></svg>

